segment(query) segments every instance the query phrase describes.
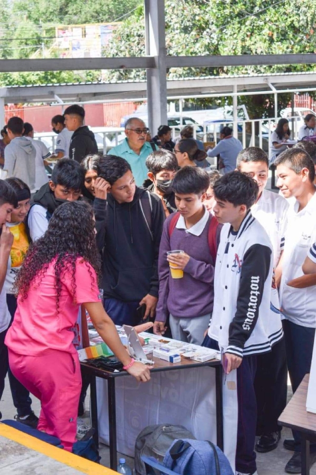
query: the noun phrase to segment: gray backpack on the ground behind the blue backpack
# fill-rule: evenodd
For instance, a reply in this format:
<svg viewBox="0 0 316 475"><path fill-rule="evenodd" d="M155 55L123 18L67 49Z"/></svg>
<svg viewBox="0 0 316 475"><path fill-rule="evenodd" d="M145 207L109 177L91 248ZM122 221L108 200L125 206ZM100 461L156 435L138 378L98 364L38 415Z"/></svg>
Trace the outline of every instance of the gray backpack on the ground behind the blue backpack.
<svg viewBox="0 0 316 475"><path fill-rule="evenodd" d="M176 439L195 439L194 435L183 426L161 424L147 426L138 434L135 442L135 473L146 475L146 468L141 456L155 457L159 462Z"/></svg>

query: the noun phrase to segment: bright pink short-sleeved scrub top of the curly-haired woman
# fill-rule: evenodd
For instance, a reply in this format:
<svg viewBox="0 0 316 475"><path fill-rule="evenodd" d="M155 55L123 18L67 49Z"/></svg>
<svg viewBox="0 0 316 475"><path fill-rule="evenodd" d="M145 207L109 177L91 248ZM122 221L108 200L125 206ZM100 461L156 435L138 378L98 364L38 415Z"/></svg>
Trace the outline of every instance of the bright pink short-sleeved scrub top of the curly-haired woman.
<svg viewBox="0 0 316 475"><path fill-rule="evenodd" d="M95 270L78 258L75 298L71 274L67 271L62 276L57 313L54 262L55 259L50 262L40 283L38 277L34 279L26 299L18 296L14 320L5 338L5 345L14 353L37 356L51 349L76 353L71 328L77 321L79 306L101 302Z"/></svg>

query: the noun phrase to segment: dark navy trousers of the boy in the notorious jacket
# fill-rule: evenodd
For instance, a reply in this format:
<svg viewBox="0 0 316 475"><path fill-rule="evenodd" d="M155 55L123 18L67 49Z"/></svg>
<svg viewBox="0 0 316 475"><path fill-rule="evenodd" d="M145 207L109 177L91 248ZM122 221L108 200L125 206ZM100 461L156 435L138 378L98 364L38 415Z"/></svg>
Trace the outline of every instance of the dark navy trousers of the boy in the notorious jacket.
<svg viewBox="0 0 316 475"><path fill-rule="evenodd" d="M219 350L218 343L206 335L202 346ZM237 368L237 446L236 472L254 474L256 453L254 451L256 437L257 403L254 390L257 355L244 356Z"/></svg>

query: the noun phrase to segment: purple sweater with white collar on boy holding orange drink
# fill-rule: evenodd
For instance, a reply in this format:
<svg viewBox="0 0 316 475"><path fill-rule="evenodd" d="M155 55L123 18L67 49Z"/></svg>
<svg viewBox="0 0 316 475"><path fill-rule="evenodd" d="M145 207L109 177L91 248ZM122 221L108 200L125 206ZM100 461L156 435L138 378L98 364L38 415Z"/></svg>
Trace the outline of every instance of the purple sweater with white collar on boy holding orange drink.
<svg viewBox="0 0 316 475"><path fill-rule="evenodd" d="M213 309L213 281L215 262L208 245L208 229L212 217L205 209L204 216L195 224L196 231L184 229L184 219L179 218L171 236L169 226L172 215L163 225L159 248L159 298L156 321L165 322L169 313L179 318L194 318L211 313ZM184 225L185 227L185 225ZM217 228L219 244L221 225ZM195 232L195 234L193 234ZM182 279L171 277L167 251L180 249L190 256Z"/></svg>

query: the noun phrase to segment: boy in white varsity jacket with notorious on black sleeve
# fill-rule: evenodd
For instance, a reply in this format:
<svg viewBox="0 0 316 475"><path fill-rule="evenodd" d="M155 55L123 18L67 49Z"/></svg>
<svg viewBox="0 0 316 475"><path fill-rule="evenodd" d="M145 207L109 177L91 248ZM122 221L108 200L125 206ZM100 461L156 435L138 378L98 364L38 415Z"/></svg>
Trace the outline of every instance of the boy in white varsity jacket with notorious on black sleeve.
<svg viewBox="0 0 316 475"><path fill-rule="evenodd" d="M213 315L203 342L223 353L224 417L225 401L236 407L224 446L234 441L236 474L248 475L257 473L256 355L271 351L273 341L265 321L270 313L273 250L250 211L258 191L252 178L237 171L214 184L213 213L225 224L215 265Z"/></svg>

